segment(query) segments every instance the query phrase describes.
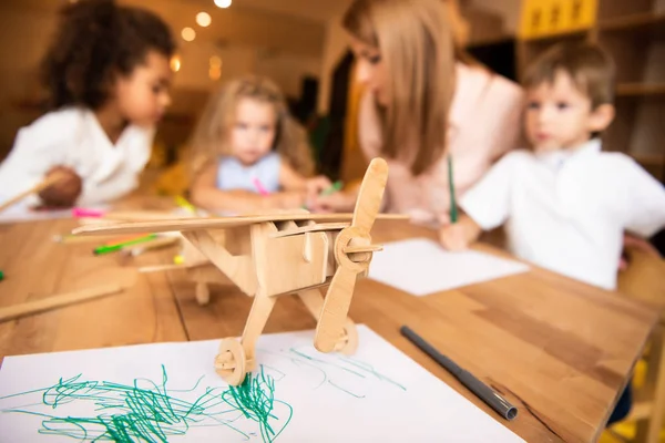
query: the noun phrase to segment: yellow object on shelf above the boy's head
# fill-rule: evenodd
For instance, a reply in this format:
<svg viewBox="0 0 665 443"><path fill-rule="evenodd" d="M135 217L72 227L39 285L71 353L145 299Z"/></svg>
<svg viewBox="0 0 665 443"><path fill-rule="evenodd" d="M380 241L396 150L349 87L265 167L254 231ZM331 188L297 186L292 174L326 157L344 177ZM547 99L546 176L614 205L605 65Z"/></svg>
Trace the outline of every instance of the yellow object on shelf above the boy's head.
<svg viewBox="0 0 665 443"><path fill-rule="evenodd" d="M597 0L524 0L520 38L535 39L594 25Z"/></svg>

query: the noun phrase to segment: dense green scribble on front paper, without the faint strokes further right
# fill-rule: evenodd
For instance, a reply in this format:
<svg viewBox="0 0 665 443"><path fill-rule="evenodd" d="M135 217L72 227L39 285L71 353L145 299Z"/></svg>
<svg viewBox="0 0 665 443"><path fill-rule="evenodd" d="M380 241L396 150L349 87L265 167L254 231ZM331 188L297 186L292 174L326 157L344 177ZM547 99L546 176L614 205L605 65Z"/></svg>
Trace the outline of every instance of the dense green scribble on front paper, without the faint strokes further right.
<svg viewBox="0 0 665 443"><path fill-rule="evenodd" d="M121 443L167 442L170 436L185 435L192 427L200 426L226 426L249 440L252 434L234 425L239 425L238 420L242 418L257 422L263 441L273 442L291 419L291 406L275 400L275 381L264 374L263 368L259 375L253 378L249 374L241 387L206 388L193 402L172 395L174 392L193 392L202 379L203 377L192 389L168 391L164 365L160 384L145 379L135 379L129 385L109 381L83 381L82 374L79 374L71 379L61 378L47 389L4 396L2 399L43 392L41 403L2 412L43 418L38 431L40 434ZM30 406L45 405L55 411L72 402L92 402L95 412L90 416L59 416L28 410ZM275 415L276 404L286 406L284 423L279 423Z"/></svg>

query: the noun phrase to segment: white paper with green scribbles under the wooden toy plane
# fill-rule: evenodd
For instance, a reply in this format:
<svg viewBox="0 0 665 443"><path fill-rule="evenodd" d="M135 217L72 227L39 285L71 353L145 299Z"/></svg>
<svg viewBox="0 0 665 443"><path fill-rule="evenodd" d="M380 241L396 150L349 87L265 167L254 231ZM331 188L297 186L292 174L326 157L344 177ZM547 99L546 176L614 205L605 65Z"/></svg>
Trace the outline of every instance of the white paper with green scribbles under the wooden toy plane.
<svg viewBox="0 0 665 443"><path fill-rule="evenodd" d="M0 429L10 441L522 442L365 326L354 357L314 331L264 334L257 368L228 387L219 340L7 357Z"/></svg>

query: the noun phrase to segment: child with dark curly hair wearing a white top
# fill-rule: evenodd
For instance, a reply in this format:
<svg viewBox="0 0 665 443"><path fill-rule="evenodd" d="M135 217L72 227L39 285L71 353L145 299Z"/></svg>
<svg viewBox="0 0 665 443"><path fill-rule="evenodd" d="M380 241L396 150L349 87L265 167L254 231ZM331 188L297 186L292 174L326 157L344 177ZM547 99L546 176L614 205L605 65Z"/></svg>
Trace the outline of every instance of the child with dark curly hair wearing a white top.
<svg viewBox="0 0 665 443"><path fill-rule="evenodd" d="M58 174L17 207L109 202L133 190L170 104L175 42L152 12L113 0L66 6L43 60L51 111L21 128L0 165L0 204Z"/></svg>

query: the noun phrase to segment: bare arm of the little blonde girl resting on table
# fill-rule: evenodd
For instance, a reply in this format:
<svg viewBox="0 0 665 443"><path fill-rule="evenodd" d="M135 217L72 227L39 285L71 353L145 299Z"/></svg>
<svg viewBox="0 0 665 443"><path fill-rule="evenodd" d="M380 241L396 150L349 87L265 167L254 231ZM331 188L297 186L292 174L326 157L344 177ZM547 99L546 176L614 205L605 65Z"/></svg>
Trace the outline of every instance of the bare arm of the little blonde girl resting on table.
<svg viewBox="0 0 665 443"><path fill-rule="evenodd" d="M194 181L192 203L207 210L235 214L265 209L293 209L305 203L305 193L286 190L262 196L244 189L222 190L216 186L217 165L207 166Z"/></svg>

